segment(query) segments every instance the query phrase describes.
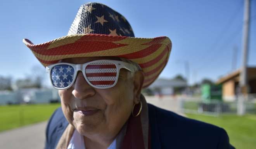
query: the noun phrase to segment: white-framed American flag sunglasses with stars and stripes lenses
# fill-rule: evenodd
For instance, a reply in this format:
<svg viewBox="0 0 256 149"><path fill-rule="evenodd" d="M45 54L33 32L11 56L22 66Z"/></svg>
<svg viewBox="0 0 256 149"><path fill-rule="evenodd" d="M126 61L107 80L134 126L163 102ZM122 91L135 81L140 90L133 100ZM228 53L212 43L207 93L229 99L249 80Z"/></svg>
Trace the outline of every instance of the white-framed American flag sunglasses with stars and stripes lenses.
<svg viewBox="0 0 256 149"><path fill-rule="evenodd" d="M95 60L83 64L56 63L46 67L55 89L68 89L78 74L83 73L86 82L97 89L107 89L116 85L120 69L135 72L132 64L118 60Z"/></svg>

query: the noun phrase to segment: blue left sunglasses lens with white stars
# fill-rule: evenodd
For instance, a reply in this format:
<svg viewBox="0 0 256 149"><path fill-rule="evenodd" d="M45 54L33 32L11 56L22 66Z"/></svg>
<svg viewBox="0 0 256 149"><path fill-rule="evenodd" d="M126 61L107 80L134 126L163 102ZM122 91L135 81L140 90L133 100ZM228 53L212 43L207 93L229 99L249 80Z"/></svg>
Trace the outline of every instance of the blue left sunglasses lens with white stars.
<svg viewBox="0 0 256 149"><path fill-rule="evenodd" d="M54 87L65 88L74 78L74 68L71 65L60 64L52 68L51 81Z"/></svg>

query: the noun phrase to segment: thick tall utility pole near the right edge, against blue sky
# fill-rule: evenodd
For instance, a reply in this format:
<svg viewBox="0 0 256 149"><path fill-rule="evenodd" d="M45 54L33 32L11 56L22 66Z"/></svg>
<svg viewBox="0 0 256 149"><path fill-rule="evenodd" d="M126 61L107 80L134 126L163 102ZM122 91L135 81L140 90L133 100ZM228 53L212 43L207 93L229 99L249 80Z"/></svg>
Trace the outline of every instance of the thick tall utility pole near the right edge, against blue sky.
<svg viewBox="0 0 256 149"><path fill-rule="evenodd" d="M242 57L242 67L240 74L240 96L237 102L237 114L245 114L244 102L247 96L247 52L248 52L248 41L249 41L249 25L250 25L250 0L244 0L244 28L243 28L243 57Z"/></svg>

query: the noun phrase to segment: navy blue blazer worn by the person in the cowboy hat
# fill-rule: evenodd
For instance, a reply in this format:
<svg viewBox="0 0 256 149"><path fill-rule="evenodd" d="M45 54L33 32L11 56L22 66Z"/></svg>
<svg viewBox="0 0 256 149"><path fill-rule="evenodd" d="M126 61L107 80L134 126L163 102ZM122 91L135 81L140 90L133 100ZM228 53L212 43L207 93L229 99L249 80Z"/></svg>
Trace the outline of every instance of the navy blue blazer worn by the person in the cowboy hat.
<svg viewBox="0 0 256 149"><path fill-rule="evenodd" d="M152 149L235 149L220 127L185 118L148 104ZM51 116L45 149L55 149L68 122L61 108Z"/></svg>

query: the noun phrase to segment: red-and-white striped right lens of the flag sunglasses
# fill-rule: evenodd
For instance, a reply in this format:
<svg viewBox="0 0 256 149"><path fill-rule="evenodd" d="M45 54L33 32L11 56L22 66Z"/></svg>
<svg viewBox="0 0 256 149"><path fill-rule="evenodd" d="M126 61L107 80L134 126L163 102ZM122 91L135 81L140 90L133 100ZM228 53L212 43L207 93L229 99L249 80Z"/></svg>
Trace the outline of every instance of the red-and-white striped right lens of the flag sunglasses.
<svg viewBox="0 0 256 149"><path fill-rule="evenodd" d="M85 68L85 75L93 86L110 87L116 81L116 65L108 61L92 62Z"/></svg>

